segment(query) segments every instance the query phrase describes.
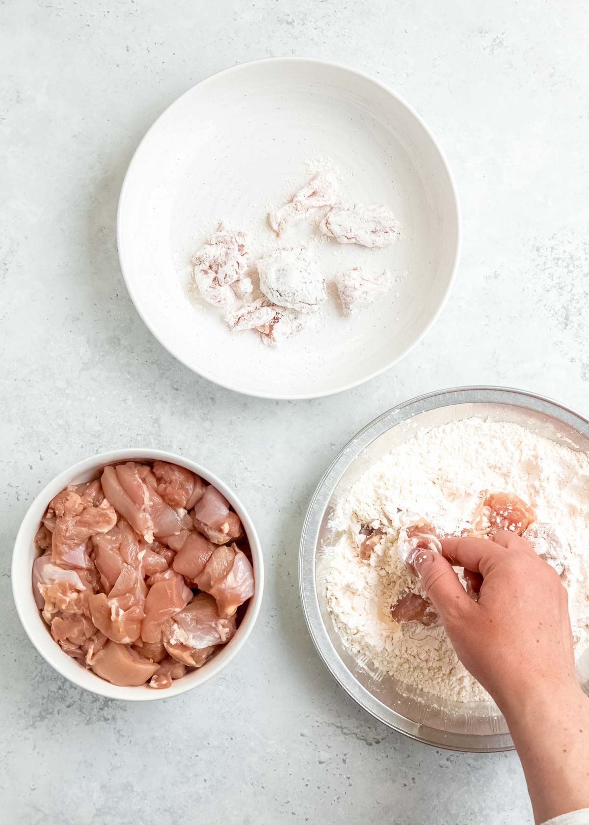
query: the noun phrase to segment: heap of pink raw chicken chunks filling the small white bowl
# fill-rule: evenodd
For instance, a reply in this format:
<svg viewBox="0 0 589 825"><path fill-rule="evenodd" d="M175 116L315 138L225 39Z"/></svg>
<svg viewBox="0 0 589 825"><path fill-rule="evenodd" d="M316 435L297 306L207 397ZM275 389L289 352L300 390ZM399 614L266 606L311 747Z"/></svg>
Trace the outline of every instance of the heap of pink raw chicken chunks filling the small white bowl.
<svg viewBox="0 0 589 825"><path fill-rule="evenodd" d="M33 563L35 603L82 667L116 685L163 689L233 636L235 612L253 594L251 563L227 546L242 536L229 502L188 470L164 462L106 467L101 479L50 502L35 535L45 551ZM193 599L197 580L211 595ZM172 630L192 634L190 643L171 641Z"/></svg>

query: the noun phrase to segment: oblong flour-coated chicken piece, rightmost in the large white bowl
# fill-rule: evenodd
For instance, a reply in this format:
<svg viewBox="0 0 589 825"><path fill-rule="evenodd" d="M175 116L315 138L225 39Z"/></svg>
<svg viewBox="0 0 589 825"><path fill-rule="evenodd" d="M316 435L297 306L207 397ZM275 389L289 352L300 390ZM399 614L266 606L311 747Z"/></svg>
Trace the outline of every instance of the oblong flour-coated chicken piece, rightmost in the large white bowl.
<svg viewBox="0 0 589 825"><path fill-rule="evenodd" d="M401 224L386 206L352 204L336 206L327 212L319 229L339 243L388 247L398 240Z"/></svg>

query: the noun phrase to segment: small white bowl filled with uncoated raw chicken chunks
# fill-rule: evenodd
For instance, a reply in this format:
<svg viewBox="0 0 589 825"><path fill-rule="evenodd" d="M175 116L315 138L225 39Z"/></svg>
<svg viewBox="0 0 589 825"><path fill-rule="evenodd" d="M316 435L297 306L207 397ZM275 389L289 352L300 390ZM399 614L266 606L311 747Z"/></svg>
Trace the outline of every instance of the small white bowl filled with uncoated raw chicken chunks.
<svg viewBox="0 0 589 825"><path fill-rule="evenodd" d="M45 513L45 509L51 499L67 487L68 484L78 484L84 481L96 479L100 471L106 464L115 464L120 461L169 461L172 464L179 464L181 467L190 469L193 473L200 475L202 479L218 488L224 497L231 503L242 521L243 527L249 540L252 551L253 572L255 578L255 592L247 605L246 614L238 627L237 633L224 648L219 650L209 662L199 667L195 671L186 673L181 679L172 681L172 686L166 690L155 690L147 686L141 687L119 687L111 685L110 682L101 679L91 670L85 670L73 658L54 642L49 633L49 628L41 617L40 610L35 605L33 588L31 584L32 567L35 558L39 555L39 550L35 548L35 533L39 529L40 521ZM55 670L66 679L72 681L74 685L83 687L87 691L107 696L109 699L125 699L130 701L148 701L156 699L168 699L170 696L177 696L180 693L191 691L192 688L202 685L205 681L215 676L219 671L229 664L233 656L243 647L247 637L252 632L253 625L257 620L262 603L262 592L264 589L264 563L262 560L262 549L257 532L252 524L252 520L247 514L242 502L220 479L210 473L208 469L201 467L194 461L182 458L181 455L174 455L165 450L111 450L92 458L85 459L74 464L73 467L64 470L53 481L49 482L41 490L35 501L29 507L26 516L22 520L20 530L16 535L14 552L12 554L12 593L16 604L16 611L21 620L22 626L39 651Z"/></svg>

